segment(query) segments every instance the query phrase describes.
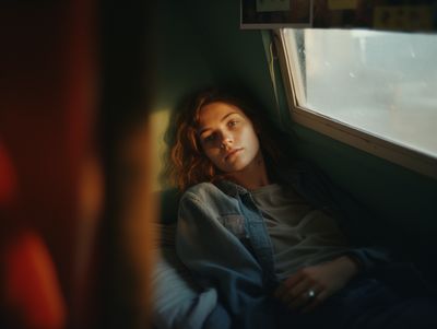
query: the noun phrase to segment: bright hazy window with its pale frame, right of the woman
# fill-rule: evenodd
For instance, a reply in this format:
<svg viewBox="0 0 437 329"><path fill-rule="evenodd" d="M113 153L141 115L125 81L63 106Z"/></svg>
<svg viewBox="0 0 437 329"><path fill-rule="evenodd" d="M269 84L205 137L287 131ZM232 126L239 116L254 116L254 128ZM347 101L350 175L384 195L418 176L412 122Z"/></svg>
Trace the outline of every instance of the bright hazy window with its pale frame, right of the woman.
<svg viewBox="0 0 437 329"><path fill-rule="evenodd" d="M437 177L437 35L276 33L296 121Z"/></svg>

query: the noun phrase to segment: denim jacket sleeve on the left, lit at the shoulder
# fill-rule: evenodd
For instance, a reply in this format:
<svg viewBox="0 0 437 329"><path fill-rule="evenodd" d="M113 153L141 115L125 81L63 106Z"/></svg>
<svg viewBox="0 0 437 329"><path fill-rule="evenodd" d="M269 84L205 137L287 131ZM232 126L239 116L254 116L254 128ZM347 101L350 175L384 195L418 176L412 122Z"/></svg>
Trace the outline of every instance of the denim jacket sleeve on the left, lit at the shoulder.
<svg viewBox="0 0 437 329"><path fill-rule="evenodd" d="M178 256L203 287L217 289L234 327L269 328L272 319L262 270L241 242L222 224L213 209L216 200L208 196L187 191L180 200Z"/></svg>

